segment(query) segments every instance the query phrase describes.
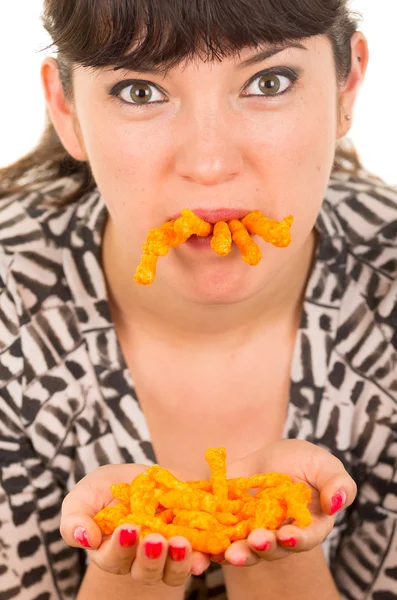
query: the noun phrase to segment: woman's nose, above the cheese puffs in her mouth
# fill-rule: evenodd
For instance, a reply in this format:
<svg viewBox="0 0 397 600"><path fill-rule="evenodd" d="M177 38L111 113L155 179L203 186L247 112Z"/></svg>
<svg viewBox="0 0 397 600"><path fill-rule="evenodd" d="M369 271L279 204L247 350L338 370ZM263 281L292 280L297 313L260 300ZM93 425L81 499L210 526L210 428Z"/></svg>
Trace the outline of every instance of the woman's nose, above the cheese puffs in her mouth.
<svg viewBox="0 0 397 600"><path fill-rule="evenodd" d="M233 128L236 132L236 128ZM178 141L175 168L177 174L201 185L227 182L241 172L243 157L231 135L227 120L219 115L201 114L185 122L182 141Z"/></svg>

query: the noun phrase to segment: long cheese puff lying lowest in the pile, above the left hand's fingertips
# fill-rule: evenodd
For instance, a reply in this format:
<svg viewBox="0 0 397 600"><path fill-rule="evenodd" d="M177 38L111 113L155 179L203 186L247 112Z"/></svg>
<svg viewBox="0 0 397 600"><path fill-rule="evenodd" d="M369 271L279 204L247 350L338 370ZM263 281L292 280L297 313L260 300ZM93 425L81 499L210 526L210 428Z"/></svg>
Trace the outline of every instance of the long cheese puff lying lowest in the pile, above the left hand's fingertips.
<svg viewBox="0 0 397 600"><path fill-rule="evenodd" d="M132 515L125 517L121 524L134 523L140 527L150 529L152 533L160 533L166 539L173 536L185 537L192 545L194 550L204 552L205 554L221 554L230 546L230 540L222 533L212 531L199 531L190 527L180 527L179 525L165 524L156 518L141 518L140 523L136 523Z"/></svg>

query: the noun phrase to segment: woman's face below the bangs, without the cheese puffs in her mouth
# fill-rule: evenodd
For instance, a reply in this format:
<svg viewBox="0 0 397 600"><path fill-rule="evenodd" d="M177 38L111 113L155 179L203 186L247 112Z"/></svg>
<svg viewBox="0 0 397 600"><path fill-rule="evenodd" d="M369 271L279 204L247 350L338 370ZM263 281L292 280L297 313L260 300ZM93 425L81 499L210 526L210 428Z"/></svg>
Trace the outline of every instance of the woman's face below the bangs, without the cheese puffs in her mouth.
<svg viewBox="0 0 397 600"><path fill-rule="evenodd" d="M159 259L154 286L197 302L237 302L297 268L335 152L332 47L317 36L242 64L257 54L186 62L165 78L75 71L79 138L131 281L148 231L185 208L258 209L276 220L292 214L292 243L278 249L255 238L262 261L250 267L236 247L221 258L187 242Z"/></svg>

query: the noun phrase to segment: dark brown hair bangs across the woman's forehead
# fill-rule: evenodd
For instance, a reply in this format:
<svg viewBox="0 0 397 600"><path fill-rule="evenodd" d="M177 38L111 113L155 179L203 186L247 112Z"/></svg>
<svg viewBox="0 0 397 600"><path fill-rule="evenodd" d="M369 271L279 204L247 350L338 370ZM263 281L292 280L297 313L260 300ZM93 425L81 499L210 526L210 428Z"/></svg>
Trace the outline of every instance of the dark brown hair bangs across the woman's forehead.
<svg viewBox="0 0 397 600"><path fill-rule="evenodd" d="M95 4L95 10L92 6ZM94 69L168 70L186 59L216 61L243 48L326 34L342 0L68 0L66 60Z"/></svg>

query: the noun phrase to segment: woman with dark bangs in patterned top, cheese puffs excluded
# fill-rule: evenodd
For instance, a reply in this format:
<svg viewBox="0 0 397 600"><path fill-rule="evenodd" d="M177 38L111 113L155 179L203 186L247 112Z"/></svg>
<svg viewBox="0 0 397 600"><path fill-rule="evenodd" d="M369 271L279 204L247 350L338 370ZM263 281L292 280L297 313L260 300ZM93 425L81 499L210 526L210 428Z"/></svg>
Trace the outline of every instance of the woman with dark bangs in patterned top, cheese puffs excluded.
<svg viewBox="0 0 397 600"><path fill-rule="evenodd" d="M195 566L191 598L393 597L397 194L339 148L368 63L347 2L46 0L44 25L49 124L0 178L1 589L179 600ZM251 268L193 237L137 285L185 208L291 214L292 242ZM314 533L209 569L179 539L179 574L156 534L146 563L100 546L110 480L205 477L210 446L230 475L305 471Z"/></svg>

